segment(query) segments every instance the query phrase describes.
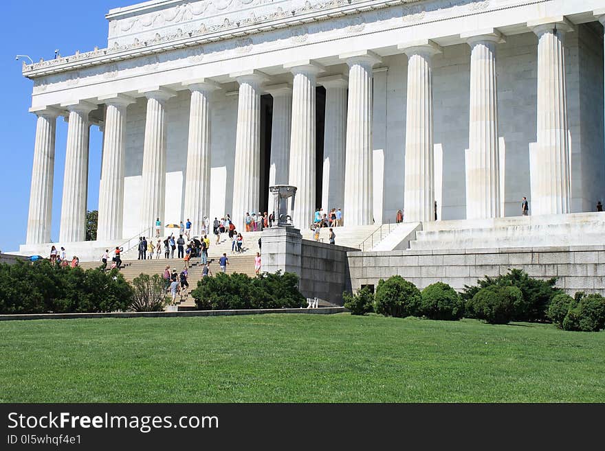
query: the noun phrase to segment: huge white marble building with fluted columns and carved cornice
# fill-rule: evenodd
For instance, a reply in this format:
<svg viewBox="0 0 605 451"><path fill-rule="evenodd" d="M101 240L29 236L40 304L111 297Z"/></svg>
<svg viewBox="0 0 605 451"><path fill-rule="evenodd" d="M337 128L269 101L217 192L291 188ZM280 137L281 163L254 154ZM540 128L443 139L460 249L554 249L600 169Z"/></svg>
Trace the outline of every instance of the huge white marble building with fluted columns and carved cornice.
<svg viewBox="0 0 605 451"><path fill-rule="evenodd" d="M341 207L347 227L404 209L436 242L417 249L448 247L436 218L441 237L511 224L522 196L531 224L605 227L598 215L553 219L604 201L605 0L152 0L106 17L106 48L23 65L38 119L22 253L53 241L96 255L149 235L156 218L190 218L195 233L203 216L230 213L239 229L269 209L272 185L297 187L299 229L316 207ZM100 181L88 176L91 126L103 132ZM58 237L55 152L66 155ZM98 242L85 243L96 183Z"/></svg>

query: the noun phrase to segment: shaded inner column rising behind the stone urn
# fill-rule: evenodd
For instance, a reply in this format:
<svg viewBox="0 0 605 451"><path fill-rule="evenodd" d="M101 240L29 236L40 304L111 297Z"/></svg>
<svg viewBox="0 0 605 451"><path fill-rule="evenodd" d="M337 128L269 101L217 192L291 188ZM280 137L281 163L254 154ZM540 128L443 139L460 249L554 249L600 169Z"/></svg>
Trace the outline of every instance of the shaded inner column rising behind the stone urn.
<svg viewBox="0 0 605 451"><path fill-rule="evenodd" d="M269 186L287 185L290 162L290 132L292 131L292 86L276 84L267 86L265 91L273 97ZM269 208L273 205L271 193L269 193L269 203L267 205L270 206Z"/></svg>

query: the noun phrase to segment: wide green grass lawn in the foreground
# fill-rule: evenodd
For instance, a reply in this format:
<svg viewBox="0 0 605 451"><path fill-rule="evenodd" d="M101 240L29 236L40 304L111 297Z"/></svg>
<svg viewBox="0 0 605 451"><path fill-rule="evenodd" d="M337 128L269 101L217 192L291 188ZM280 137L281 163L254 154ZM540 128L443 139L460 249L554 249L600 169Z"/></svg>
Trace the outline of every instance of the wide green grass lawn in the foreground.
<svg viewBox="0 0 605 451"><path fill-rule="evenodd" d="M605 332L350 314L0 322L0 402L605 402Z"/></svg>

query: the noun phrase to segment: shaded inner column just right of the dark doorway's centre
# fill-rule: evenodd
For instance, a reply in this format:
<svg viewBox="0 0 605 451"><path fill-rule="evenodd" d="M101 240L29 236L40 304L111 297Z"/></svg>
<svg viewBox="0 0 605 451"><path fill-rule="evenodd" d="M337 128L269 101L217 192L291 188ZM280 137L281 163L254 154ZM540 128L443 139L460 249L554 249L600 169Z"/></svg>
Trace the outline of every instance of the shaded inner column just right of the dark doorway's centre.
<svg viewBox="0 0 605 451"><path fill-rule="evenodd" d="M326 89L324 126L324 163L322 172L322 209L344 207L344 152L347 142L347 87L346 77L320 78Z"/></svg>

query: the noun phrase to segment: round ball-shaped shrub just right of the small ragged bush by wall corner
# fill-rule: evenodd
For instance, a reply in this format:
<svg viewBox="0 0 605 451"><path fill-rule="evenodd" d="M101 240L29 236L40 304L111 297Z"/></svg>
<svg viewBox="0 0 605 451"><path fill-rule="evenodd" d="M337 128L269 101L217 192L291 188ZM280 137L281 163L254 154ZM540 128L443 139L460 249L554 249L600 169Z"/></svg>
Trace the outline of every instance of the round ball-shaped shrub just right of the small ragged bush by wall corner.
<svg viewBox="0 0 605 451"><path fill-rule="evenodd" d="M374 296L374 310L384 316L417 316L421 302L420 290L399 275L380 279Z"/></svg>

